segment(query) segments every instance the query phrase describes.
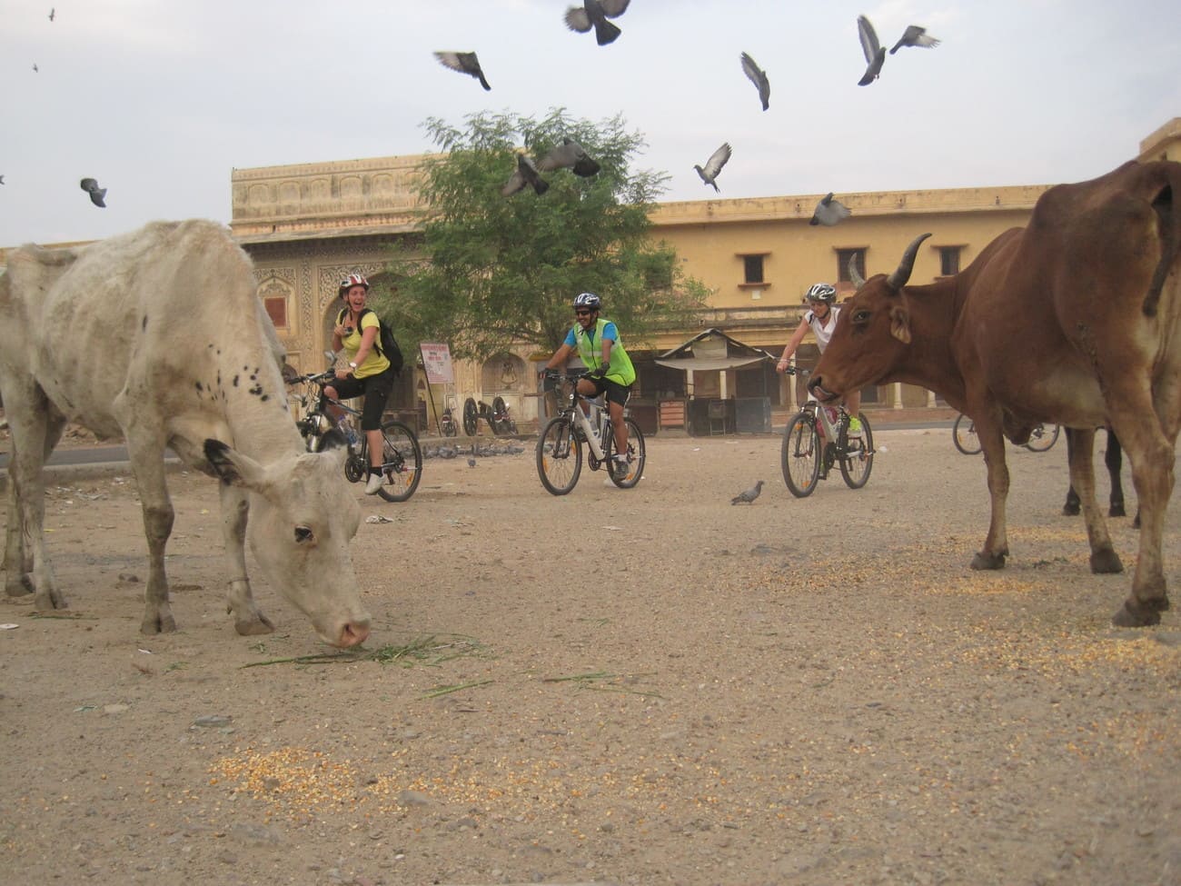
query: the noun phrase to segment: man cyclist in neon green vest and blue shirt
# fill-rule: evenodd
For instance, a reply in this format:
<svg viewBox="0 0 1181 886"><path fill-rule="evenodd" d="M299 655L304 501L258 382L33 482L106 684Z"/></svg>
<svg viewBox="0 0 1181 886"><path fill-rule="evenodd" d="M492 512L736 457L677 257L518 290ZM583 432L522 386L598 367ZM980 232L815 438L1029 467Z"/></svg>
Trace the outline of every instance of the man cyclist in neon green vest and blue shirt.
<svg viewBox="0 0 1181 886"><path fill-rule="evenodd" d="M587 374L579 379L579 393L586 397L606 393L607 415L611 416L611 428L615 434L615 457L608 469L618 477L626 475L628 470L624 405L632 383L635 382L635 367L619 340L615 324L599 317L600 307L602 300L593 292L579 293L574 299L574 326L566 334L561 347L549 358L546 371L565 366L570 354L575 350L579 352L582 365L587 367Z"/></svg>

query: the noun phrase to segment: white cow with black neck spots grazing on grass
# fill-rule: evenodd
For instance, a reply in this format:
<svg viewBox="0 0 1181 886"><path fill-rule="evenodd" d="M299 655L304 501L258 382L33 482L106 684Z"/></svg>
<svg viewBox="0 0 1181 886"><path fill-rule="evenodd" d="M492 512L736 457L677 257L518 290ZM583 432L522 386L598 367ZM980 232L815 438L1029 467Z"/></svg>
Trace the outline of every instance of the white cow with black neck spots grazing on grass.
<svg viewBox="0 0 1181 886"><path fill-rule="evenodd" d="M282 351L250 259L208 221L154 222L80 249L25 246L0 276L0 395L12 430L5 591L66 601L46 560L41 468L67 421L122 435L143 503L144 633L175 631L164 546L164 449L221 478L229 611L267 633L244 538L267 579L334 646L368 636L348 545L360 509L342 450L309 454L288 412Z"/></svg>

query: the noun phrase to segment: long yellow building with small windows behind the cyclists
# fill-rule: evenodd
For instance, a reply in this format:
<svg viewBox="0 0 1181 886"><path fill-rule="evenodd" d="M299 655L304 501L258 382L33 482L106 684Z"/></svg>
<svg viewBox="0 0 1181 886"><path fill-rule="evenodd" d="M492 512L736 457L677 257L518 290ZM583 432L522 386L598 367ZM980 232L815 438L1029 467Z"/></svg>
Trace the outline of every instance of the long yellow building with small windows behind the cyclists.
<svg viewBox="0 0 1181 886"><path fill-rule="evenodd" d="M233 172L235 236L250 253L259 292L300 370L319 367L337 311L337 284L359 269L380 279L389 246L417 230L422 209L416 170L429 155L237 169ZM1181 158L1181 118L1174 118L1140 145L1143 159ZM1107 170L1096 170L1100 175ZM709 307L698 326L658 337L647 350L629 345L639 378L633 413L650 430L657 416L702 429L706 400L769 400L778 415L794 408L802 382L790 384L769 361L740 369L684 372L655 359L705 330L778 354L802 317L803 293L817 281L850 292L848 262L863 275L893 269L906 245L931 232L915 261L912 280L934 280L966 267L1003 230L1023 226L1050 185L955 188L841 194L853 215L836 227L810 226L822 195L705 200L659 204L653 236L673 246L690 276L709 287ZM866 273L868 272L868 274ZM722 337L697 346L715 353ZM811 366L817 352L805 340L797 365ZM457 364L454 387L428 390L420 371L406 372L391 398L403 417L428 419L426 403L442 409L469 397L491 403L501 397L518 423L537 417L537 398L528 348L498 354L484 364ZM740 363L740 360L732 360ZM863 392L863 408L935 405L933 396L909 385ZM684 405L687 404L687 409ZM776 422L779 423L779 422Z"/></svg>

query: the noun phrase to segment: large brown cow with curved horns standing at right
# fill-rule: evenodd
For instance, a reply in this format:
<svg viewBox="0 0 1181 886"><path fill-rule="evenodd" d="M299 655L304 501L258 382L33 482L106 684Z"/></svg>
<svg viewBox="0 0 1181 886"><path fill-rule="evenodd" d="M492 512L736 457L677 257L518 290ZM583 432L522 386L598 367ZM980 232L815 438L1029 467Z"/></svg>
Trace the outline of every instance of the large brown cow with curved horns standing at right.
<svg viewBox="0 0 1181 886"><path fill-rule="evenodd" d="M1181 163L1125 163L1038 200L1029 227L993 240L963 273L907 286L898 269L860 284L809 387L821 400L909 382L970 415L984 445L992 520L972 567L1009 553L1005 442L1037 422L1065 425L1070 480L1083 502L1092 572L1123 568L1095 501L1091 452L1104 423L1131 461L1141 509L1131 594L1115 614L1153 625L1169 606L1161 566L1181 424Z"/></svg>

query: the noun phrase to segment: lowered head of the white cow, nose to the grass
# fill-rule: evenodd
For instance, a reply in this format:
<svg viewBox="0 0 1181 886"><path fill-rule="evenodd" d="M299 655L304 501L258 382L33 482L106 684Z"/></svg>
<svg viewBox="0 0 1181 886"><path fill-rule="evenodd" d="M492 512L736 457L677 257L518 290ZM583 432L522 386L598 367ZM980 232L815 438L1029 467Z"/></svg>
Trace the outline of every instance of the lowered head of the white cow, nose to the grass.
<svg viewBox="0 0 1181 886"><path fill-rule="evenodd" d="M326 643L363 643L370 617L348 552L360 507L344 482L345 450L283 455L267 465L216 439L204 450L222 482L249 490L250 548L275 589Z"/></svg>

